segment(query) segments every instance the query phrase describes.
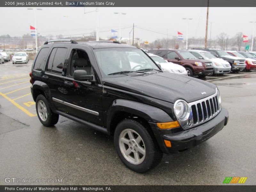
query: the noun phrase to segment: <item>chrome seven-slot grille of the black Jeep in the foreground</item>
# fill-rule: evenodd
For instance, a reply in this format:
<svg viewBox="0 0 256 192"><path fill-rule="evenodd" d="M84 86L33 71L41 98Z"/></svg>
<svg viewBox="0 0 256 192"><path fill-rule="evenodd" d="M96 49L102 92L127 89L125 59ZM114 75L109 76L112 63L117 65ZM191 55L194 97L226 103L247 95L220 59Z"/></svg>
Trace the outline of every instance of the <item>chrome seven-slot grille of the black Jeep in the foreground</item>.
<svg viewBox="0 0 256 192"><path fill-rule="evenodd" d="M212 119L221 110L217 99L217 92L204 99L188 103L188 106L190 108L189 119L192 121L192 124L190 126L186 126L185 129L194 127Z"/></svg>

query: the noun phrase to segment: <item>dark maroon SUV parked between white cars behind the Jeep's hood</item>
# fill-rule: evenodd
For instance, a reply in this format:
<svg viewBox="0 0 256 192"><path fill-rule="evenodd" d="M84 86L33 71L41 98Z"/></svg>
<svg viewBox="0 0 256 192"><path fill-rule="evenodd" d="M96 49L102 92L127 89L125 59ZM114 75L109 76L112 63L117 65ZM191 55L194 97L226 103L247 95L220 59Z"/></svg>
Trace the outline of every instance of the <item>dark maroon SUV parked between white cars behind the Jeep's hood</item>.
<svg viewBox="0 0 256 192"><path fill-rule="evenodd" d="M178 49L150 49L148 53L153 53L168 62L182 65L186 68L188 76L205 77L213 72L212 62L203 59L197 59L194 55L186 50Z"/></svg>

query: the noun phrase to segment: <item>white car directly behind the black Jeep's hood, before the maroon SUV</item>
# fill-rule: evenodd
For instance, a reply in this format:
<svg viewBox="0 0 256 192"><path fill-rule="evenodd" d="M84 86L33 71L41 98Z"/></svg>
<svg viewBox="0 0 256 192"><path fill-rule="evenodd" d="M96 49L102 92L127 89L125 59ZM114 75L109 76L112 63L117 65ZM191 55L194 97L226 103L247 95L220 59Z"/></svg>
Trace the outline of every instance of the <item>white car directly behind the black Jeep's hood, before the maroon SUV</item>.
<svg viewBox="0 0 256 192"><path fill-rule="evenodd" d="M178 64L175 64L172 62L168 62L168 61L164 60L162 57L159 57L152 53L148 53L148 56L151 57L151 59L153 59L156 62L156 64L160 64L163 71L170 72L170 73L176 73L176 74L180 74L180 75L188 75L187 70L184 67L182 67L181 65L178 65Z"/></svg>

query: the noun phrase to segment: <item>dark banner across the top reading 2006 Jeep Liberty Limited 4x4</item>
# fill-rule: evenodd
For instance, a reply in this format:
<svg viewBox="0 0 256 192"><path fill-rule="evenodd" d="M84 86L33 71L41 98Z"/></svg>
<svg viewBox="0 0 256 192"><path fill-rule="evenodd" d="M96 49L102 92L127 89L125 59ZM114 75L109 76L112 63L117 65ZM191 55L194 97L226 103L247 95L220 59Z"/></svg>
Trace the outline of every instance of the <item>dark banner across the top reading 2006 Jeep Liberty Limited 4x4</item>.
<svg viewBox="0 0 256 192"><path fill-rule="evenodd" d="M3 0L0 7L207 7L208 1L210 7L256 7L255 0Z"/></svg>

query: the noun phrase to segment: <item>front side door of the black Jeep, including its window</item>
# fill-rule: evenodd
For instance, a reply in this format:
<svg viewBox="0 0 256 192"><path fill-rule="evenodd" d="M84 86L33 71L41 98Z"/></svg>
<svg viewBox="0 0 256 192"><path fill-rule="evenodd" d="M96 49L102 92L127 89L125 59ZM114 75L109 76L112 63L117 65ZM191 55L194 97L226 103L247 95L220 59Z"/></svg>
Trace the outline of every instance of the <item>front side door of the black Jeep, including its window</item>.
<svg viewBox="0 0 256 192"><path fill-rule="evenodd" d="M73 47L69 51L68 71L66 76L64 76L63 86L67 92L63 92L62 97L67 109L64 112L93 124L103 126L102 85L97 82L76 81L73 78L75 70L85 70L87 75L96 76L92 67L92 63L95 60L91 58L92 56L88 52L90 52L89 48L84 46L81 49L77 49L76 46L76 48Z"/></svg>

